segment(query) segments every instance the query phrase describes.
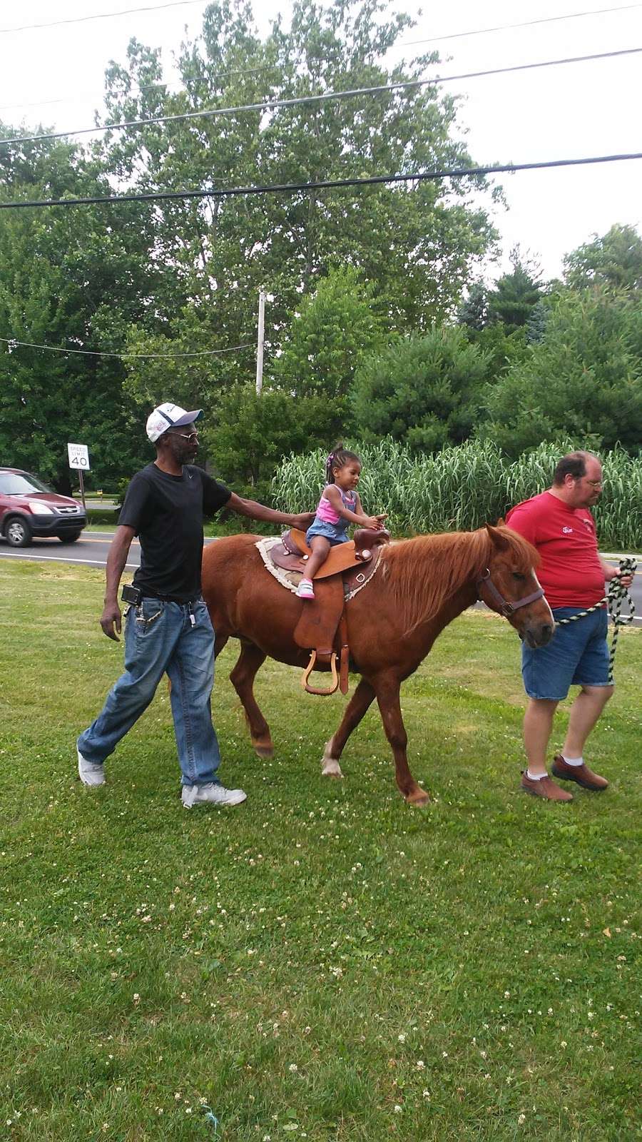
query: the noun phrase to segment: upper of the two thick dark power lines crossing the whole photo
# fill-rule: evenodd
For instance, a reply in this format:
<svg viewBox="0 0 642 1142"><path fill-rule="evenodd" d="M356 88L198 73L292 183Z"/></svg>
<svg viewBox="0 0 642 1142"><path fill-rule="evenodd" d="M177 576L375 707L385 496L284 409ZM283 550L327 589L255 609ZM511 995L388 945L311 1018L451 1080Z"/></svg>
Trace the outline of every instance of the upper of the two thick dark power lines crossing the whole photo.
<svg viewBox="0 0 642 1142"><path fill-rule="evenodd" d="M296 107L304 103L329 103L331 100L354 98L360 95L382 95L401 91L410 87L427 87L439 83L451 83L455 80L481 79L485 75L506 75L511 72L533 71L538 67L557 67L562 64L580 64L594 59L615 59L621 56L637 55L642 48L623 48L620 51L599 51L589 56L569 56L563 59L544 59L535 64L517 64L512 67L492 67L487 71L464 72L459 75L441 75L433 79L412 79L399 83L384 83L378 87L356 87L347 91L326 91L323 95L303 95L294 99L270 99L263 103L246 103L233 107L209 107L203 111L186 111L177 115L155 115L153 119L130 119L121 123L106 123L103 127L80 127L75 130L53 131L48 135L23 135L17 138L0 139L0 145L9 146L19 143L42 143L47 139L67 138L71 135L98 135L104 131L123 130L128 127L149 127L155 123L184 122L191 119L206 119L216 115L231 115L246 111L274 111L279 107Z"/></svg>

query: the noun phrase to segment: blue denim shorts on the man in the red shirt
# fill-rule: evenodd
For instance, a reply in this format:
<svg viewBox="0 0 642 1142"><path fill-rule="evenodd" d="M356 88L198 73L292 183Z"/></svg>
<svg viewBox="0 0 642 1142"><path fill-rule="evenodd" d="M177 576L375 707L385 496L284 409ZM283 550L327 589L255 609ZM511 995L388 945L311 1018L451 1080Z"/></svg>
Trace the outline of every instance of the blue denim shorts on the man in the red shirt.
<svg viewBox="0 0 642 1142"><path fill-rule="evenodd" d="M555 622L578 614L581 606L557 606ZM569 686L609 686L609 648L605 608L577 622L556 627L546 646L533 650L522 643L522 678L529 698L561 701Z"/></svg>

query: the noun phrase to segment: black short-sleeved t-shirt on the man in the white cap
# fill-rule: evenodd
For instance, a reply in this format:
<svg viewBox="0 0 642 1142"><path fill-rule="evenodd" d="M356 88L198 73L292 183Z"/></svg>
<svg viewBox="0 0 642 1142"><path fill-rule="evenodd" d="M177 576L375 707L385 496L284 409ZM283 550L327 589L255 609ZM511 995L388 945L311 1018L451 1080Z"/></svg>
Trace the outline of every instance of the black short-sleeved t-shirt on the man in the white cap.
<svg viewBox="0 0 642 1142"><path fill-rule="evenodd" d="M185 464L182 476L149 464L127 489L119 524L141 540L134 584L145 595L187 603L201 593L203 514L214 515L232 492L202 468Z"/></svg>

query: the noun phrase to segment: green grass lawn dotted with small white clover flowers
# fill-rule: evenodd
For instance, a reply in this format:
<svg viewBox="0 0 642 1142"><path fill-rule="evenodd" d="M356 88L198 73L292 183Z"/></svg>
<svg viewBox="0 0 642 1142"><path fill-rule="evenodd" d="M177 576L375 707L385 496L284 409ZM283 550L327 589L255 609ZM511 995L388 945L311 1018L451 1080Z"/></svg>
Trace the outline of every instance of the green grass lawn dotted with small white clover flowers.
<svg viewBox="0 0 642 1142"><path fill-rule="evenodd" d="M457 620L402 691L427 810L375 710L322 779L344 700L276 664L255 757L232 645L215 721L248 801L187 813L163 689L107 785L75 779L121 664L102 596L98 571L0 564L0 1136L641 1137L642 633L592 739L610 789L551 805L519 790L515 633Z"/></svg>

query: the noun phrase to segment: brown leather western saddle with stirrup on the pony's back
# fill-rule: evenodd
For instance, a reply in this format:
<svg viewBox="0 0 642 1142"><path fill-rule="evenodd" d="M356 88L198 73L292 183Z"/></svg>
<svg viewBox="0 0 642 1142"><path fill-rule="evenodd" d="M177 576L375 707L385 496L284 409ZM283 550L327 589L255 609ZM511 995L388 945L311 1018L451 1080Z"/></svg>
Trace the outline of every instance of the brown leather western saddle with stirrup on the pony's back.
<svg viewBox="0 0 642 1142"><path fill-rule="evenodd" d="M390 532L358 528L354 539L330 548L328 558L314 576L314 600L300 601L300 616L295 627L297 646L310 650L310 662L302 686L310 694L334 694L337 687L347 693L350 646L347 643L346 597L363 586L374 574L382 545L390 542ZM281 542L270 550L275 566L305 574L312 552L305 532L292 528L281 536ZM338 651L337 651L338 648ZM337 671L337 653L339 670ZM326 689L310 685L315 666L329 666L332 679Z"/></svg>

